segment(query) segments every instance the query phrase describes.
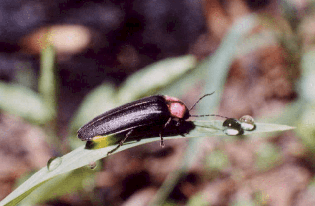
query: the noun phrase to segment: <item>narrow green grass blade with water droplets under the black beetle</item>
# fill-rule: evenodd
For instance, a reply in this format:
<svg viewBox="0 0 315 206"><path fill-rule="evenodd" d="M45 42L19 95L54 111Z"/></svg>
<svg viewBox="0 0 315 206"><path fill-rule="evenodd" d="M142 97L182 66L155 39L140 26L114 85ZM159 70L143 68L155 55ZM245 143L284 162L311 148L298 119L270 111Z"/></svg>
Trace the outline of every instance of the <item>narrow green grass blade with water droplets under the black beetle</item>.
<svg viewBox="0 0 315 206"><path fill-rule="evenodd" d="M175 135L171 137L164 137L167 139L177 139L177 138L192 138L192 137L208 137L208 136L226 136L223 132L222 124L223 121L194 121L195 128L192 129L189 134L185 136ZM266 123L257 123L256 130L253 131L245 131L244 135L264 133L264 132L276 132L276 131L285 131L291 130L295 127L286 126L286 125L278 125L278 124L266 124ZM228 136L228 137L237 137L237 136ZM119 151L126 150L131 147L135 147L141 144L159 141L159 137L150 137L143 138L141 141L130 142L122 145L118 150ZM167 144L167 142L166 142ZM104 148L99 149L86 149L85 146L81 146L68 154L65 154L61 158L61 163L54 170L49 171L47 167L42 168L38 172L36 172L32 177L30 177L27 181L25 181L22 185L20 185L17 189L15 189L11 194L9 194L6 198L1 201L1 205L11 206L20 202L23 198L25 198L28 194L30 194L33 190L35 190L40 185L44 184L46 181L56 177L57 175L63 174L65 172L70 172L82 166L88 165L91 161L96 161L101 158L107 156L107 152L114 149L117 145L111 145Z"/></svg>

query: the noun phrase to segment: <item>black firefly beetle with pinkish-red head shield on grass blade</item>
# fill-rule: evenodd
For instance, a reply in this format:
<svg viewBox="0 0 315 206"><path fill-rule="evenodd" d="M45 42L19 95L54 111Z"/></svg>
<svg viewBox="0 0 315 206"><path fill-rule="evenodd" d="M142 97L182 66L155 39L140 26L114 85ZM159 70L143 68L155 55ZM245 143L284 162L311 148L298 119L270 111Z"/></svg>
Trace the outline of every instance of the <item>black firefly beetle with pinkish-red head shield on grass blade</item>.
<svg viewBox="0 0 315 206"><path fill-rule="evenodd" d="M193 109L202 98L212 95L213 93L206 94L199 98L190 109L176 97L164 95L144 97L95 117L78 130L78 137L84 141L93 141L97 136L124 134L124 137L120 138L119 145L109 152L112 153L126 141L131 133L135 131L138 133L147 131L147 133L153 134L151 130L158 130L161 138L161 146L164 147L162 135L164 131L167 131L168 127L174 128L174 126L178 126L180 128L180 125L186 122L185 120L189 117L220 116L215 114L190 115L191 109ZM180 134L180 132L178 132L178 134ZM137 140L140 139L141 137L139 136Z"/></svg>

